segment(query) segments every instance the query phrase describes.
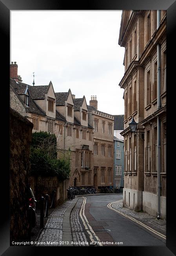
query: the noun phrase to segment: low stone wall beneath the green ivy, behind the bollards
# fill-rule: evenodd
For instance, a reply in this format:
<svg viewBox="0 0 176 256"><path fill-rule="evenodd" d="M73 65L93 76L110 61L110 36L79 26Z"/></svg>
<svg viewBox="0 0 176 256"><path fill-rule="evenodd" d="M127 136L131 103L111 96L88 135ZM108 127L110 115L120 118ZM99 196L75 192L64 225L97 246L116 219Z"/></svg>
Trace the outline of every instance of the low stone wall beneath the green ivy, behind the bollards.
<svg viewBox="0 0 176 256"><path fill-rule="evenodd" d="M54 203L53 207L56 207L67 199L67 188L69 187L69 179L60 182L57 176L30 176L31 189L35 195L37 208L40 208L39 200L45 195L49 195L49 206L52 204L53 191Z"/></svg>

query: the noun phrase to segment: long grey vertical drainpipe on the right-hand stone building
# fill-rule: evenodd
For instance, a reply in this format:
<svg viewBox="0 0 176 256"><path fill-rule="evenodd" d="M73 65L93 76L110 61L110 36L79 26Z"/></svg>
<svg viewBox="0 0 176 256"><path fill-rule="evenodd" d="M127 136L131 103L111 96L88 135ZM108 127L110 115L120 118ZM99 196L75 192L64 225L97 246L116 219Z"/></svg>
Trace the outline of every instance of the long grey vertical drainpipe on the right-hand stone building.
<svg viewBox="0 0 176 256"><path fill-rule="evenodd" d="M157 29L160 26L161 11L157 10ZM157 110L161 108L161 46L157 45ZM158 180L158 212L157 219L160 219L160 196L161 196L161 120L157 117L157 180Z"/></svg>

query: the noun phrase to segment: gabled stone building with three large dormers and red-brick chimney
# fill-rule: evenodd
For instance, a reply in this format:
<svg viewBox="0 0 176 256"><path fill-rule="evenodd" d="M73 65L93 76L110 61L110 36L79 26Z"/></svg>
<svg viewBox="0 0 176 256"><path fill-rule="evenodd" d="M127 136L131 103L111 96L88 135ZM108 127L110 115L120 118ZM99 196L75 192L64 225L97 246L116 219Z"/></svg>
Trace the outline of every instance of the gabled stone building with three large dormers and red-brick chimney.
<svg viewBox="0 0 176 256"><path fill-rule="evenodd" d="M49 85L22 83L18 65L10 65L10 106L34 124L33 132L56 135L58 156L71 163L69 185L91 184L93 127L88 124L85 97L75 99L71 90L54 93Z"/></svg>

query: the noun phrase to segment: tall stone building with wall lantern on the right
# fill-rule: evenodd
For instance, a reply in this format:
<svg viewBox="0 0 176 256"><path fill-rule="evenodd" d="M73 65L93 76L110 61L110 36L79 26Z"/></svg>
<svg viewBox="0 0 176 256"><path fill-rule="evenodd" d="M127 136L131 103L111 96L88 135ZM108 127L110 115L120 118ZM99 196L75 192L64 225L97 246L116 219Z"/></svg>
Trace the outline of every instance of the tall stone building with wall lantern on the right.
<svg viewBox="0 0 176 256"><path fill-rule="evenodd" d="M123 206L166 218L166 11L122 12ZM131 132L129 123L138 123Z"/></svg>

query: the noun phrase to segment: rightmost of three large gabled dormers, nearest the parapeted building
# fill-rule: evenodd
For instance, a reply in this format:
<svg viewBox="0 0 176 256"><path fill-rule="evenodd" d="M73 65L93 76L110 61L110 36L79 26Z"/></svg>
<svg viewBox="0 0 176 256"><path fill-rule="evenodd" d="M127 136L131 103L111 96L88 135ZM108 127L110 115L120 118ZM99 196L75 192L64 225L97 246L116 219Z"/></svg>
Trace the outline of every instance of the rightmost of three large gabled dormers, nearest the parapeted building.
<svg viewBox="0 0 176 256"><path fill-rule="evenodd" d="M85 96L83 98L75 98L74 102L74 116L78 119L82 126L88 126L88 108Z"/></svg>

